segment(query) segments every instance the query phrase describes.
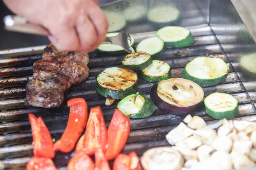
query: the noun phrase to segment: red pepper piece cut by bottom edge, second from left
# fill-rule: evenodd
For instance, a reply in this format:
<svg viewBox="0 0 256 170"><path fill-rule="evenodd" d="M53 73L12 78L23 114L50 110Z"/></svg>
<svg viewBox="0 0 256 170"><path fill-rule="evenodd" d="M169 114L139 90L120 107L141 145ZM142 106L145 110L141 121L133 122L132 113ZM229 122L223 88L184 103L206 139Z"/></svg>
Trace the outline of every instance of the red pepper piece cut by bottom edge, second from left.
<svg viewBox="0 0 256 170"><path fill-rule="evenodd" d="M84 150L76 153L67 164L68 170L94 170L95 166L90 156L86 155Z"/></svg>

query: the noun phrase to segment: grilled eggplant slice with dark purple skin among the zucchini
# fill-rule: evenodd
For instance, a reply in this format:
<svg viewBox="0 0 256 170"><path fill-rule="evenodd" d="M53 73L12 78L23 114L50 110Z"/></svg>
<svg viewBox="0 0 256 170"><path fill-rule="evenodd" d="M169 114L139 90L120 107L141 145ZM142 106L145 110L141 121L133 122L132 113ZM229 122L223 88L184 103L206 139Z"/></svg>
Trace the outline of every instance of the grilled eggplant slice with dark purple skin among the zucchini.
<svg viewBox="0 0 256 170"><path fill-rule="evenodd" d="M157 108L175 115L186 116L200 108L203 89L187 79L171 78L153 85L150 98Z"/></svg>

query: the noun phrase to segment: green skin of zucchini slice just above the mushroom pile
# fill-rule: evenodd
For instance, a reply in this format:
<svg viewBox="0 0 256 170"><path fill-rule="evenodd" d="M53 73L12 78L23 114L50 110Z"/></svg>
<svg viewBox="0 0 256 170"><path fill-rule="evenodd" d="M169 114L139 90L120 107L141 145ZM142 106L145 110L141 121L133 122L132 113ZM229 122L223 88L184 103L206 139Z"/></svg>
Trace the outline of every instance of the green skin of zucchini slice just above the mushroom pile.
<svg viewBox="0 0 256 170"><path fill-rule="evenodd" d="M234 119L239 114L238 105L232 111L215 112L205 106L205 112L214 119Z"/></svg>

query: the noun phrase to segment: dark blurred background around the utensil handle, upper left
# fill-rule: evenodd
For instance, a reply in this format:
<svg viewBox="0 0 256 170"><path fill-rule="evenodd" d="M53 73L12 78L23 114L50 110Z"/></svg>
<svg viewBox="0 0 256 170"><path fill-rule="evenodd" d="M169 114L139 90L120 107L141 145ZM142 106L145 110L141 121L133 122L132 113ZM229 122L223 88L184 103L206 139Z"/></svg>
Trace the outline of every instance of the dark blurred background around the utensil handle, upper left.
<svg viewBox="0 0 256 170"><path fill-rule="evenodd" d="M117 0L99 0L99 4L104 5L115 1ZM0 49L21 48L49 43L47 37L4 31L2 18L9 14L12 14L12 12L0 0Z"/></svg>

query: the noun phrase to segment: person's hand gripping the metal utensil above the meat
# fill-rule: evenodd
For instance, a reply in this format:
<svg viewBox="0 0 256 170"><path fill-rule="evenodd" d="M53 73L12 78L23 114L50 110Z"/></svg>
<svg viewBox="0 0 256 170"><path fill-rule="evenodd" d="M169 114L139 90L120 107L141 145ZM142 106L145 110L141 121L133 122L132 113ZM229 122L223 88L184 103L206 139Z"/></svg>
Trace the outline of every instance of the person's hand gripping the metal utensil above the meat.
<svg viewBox="0 0 256 170"><path fill-rule="evenodd" d="M59 50L87 53L96 49L108 31L98 0L3 0L15 14L44 26Z"/></svg>

